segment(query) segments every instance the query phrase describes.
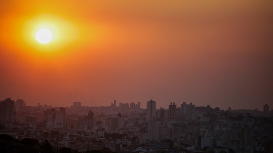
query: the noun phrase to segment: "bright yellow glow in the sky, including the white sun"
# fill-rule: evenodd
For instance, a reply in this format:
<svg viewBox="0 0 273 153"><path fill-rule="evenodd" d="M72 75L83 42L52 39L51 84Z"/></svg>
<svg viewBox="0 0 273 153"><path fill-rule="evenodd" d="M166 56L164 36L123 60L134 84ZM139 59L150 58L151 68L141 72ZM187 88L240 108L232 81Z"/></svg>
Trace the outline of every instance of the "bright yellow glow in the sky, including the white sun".
<svg viewBox="0 0 273 153"><path fill-rule="evenodd" d="M22 45L30 47L27 51L39 54L42 51L50 54L67 52L64 48L73 48L72 44L80 43L83 28L81 24L58 16L42 14L23 21ZM85 36L85 35L84 35ZM32 48L32 49L31 49ZM57 52L56 52L57 51ZM53 53L55 52L55 53Z"/></svg>

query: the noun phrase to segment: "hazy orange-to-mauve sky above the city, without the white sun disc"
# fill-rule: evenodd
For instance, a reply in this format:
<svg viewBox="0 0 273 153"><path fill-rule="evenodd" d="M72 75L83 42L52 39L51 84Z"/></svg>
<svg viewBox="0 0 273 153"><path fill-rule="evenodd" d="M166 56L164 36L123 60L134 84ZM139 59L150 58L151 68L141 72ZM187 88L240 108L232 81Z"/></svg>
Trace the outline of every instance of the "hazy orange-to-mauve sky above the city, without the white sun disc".
<svg viewBox="0 0 273 153"><path fill-rule="evenodd" d="M0 20L1 100L273 107L273 1L1 1Z"/></svg>

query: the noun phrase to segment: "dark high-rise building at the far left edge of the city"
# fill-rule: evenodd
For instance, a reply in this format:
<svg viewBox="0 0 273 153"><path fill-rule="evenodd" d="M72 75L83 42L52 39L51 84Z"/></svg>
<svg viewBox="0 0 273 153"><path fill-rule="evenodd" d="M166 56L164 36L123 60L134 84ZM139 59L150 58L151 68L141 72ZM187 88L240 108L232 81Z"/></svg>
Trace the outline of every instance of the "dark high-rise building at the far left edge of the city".
<svg viewBox="0 0 273 153"><path fill-rule="evenodd" d="M0 122L14 122L14 101L11 98L0 102Z"/></svg>

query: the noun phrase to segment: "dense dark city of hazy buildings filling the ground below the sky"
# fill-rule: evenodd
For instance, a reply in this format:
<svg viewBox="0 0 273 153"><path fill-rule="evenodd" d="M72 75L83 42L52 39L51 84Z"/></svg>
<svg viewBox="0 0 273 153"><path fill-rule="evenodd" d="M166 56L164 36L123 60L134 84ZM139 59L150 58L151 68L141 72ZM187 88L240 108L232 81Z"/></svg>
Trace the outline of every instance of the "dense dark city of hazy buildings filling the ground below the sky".
<svg viewBox="0 0 273 153"><path fill-rule="evenodd" d="M2 100L0 152L23 152L16 151L20 145L28 146L25 152L273 151L273 110L267 104L262 111L186 102L157 109L154 100L146 109L140 102L116 100L110 106L71 104L28 106L23 99Z"/></svg>

